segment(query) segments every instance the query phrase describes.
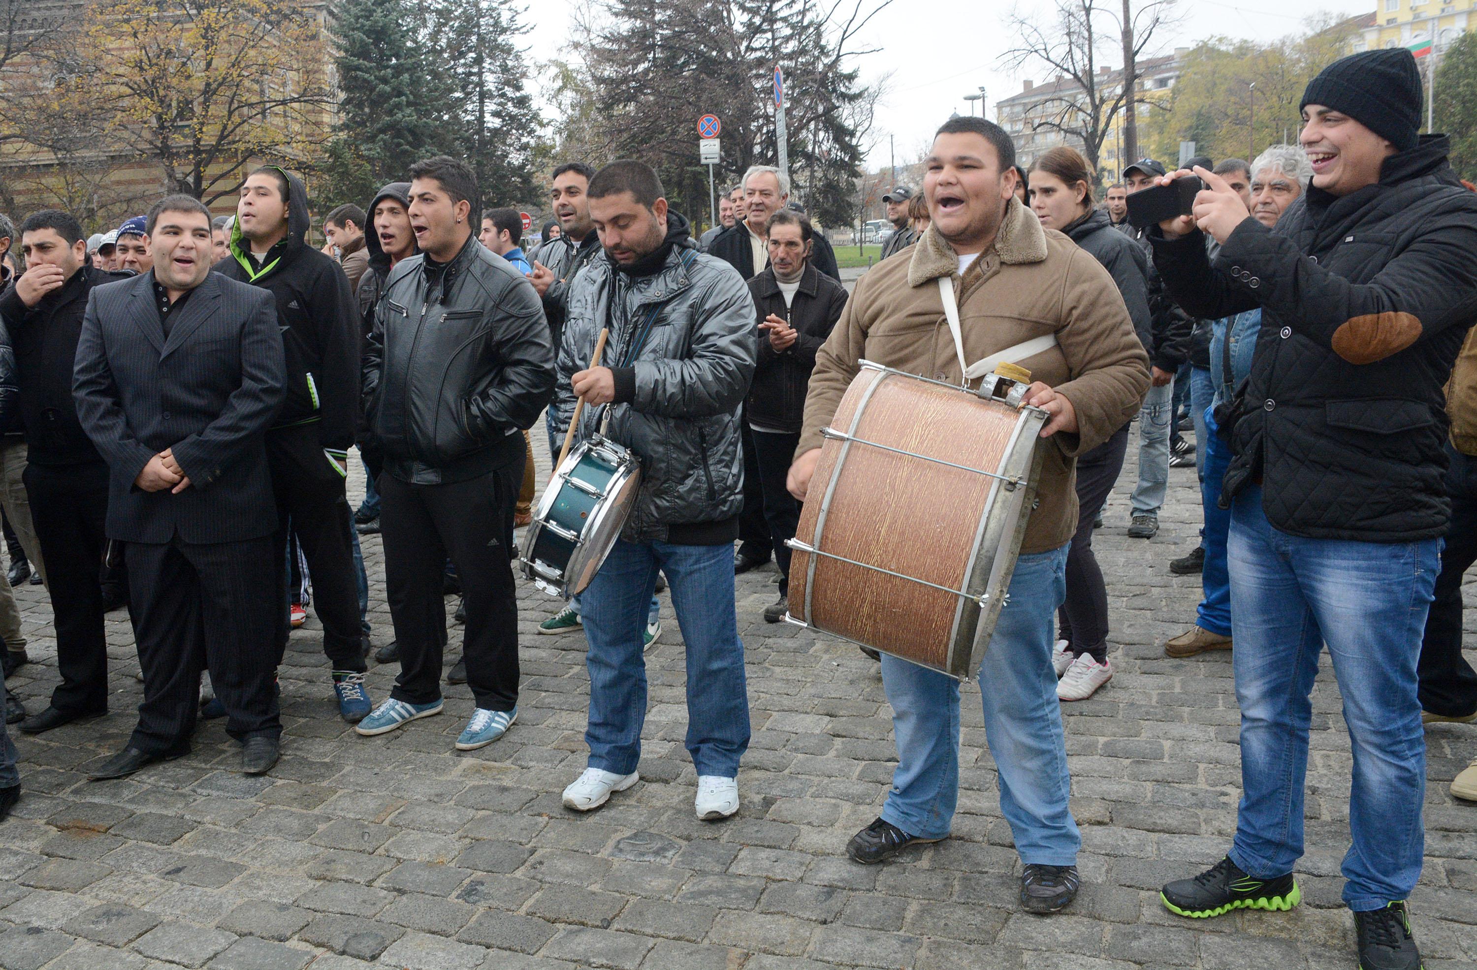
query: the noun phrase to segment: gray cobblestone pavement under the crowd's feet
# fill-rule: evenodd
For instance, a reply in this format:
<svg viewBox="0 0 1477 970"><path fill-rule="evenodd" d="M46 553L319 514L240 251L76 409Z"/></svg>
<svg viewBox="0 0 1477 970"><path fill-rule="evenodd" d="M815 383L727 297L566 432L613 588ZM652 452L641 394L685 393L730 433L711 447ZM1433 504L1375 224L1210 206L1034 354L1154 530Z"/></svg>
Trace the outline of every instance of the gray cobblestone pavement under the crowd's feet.
<svg viewBox="0 0 1477 970"><path fill-rule="evenodd" d="M546 461L541 453L541 474ZM239 749L216 720L189 757L126 781L84 781L126 740L140 695L126 614L114 613L112 713L18 738L25 797L0 827L0 966L1350 969L1353 923L1338 896L1350 754L1326 661L1307 780L1310 853L1298 865L1306 902L1202 923L1158 902L1164 880L1229 845L1238 715L1227 656L1161 651L1199 591L1198 577L1167 568L1195 542L1193 471L1171 471L1152 542L1124 536L1131 474L1133 462L1096 539L1118 673L1066 718L1086 886L1062 915L1027 915L1016 904L1019 865L972 687L954 837L889 865L843 858L894 766L882 681L855 647L765 625L775 588L764 571L737 583L753 744L741 811L722 824L693 818L682 647L666 595L663 636L647 656L642 784L589 816L560 806L585 765L585 638L536 635L554 604L532 586L520 586L520 715L502 741L453 751L471 713L465 687L448 688L446 716L357 737L337 716L310 620L282 670L284 757L266 778L236 772ZM357 492L357 461L354 475ZM363 548L383 644L378 536ZM40 588L18 595L35 663L12 687L40 710L56 681L50 608ZM452 641L455 657L455 629ZM371 670L375 698L394 673ZM1477 756L1477 728L1442 725L1427 738L1430 855L1412 898L1415 929L1430 970L1471 969L1477 806L1453 803L1446 782Z"/></svg>

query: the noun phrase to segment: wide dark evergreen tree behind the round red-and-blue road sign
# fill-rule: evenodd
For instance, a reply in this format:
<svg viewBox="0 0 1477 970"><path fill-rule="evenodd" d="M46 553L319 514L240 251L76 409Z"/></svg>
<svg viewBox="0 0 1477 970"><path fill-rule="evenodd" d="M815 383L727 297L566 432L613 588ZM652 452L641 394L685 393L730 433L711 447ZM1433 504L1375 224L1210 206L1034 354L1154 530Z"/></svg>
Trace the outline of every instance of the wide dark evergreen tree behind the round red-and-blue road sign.
<svg viewBox="0 0 1477 970"><path fill-rule="evenodd" d="M876 100L876 92L860 84L852 44L880 6L855 0L848 12L814 0L604 0L607 27L582 49L580 80L595 111L579 115L575 130L563 125L561 140L603 143L611 156L645 161L662 174L678 211L706 221L697 118L713 112L722 120L721 182L753 164L775 164L778 65L786 75L792 195L823 223L849 223L861 137Z"/></svg>

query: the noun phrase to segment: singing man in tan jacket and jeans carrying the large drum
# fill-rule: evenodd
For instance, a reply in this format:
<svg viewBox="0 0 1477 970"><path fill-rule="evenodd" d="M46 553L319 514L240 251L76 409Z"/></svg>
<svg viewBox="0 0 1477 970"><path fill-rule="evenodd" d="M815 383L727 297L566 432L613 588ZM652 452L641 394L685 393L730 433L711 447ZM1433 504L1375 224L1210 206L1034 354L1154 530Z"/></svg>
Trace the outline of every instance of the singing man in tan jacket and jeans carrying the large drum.
<svg viewBox="0 0 1477 970"><path fill-rule="evenodd" d="M1056 912L1077 895L1081 845L1066 803L1071 781L1052 667L1052 620L1077 527L1075 459L1137 412L1149 360L1108 272L1016 201L1013 164L1009 136L984 118L953 118L938 130L923 180L932 224L910 258L888 260L861 278L817 354L790 492L805 499L821 430L858 360L963 381L939 278L953 279L969 363L1055 335L1056 345L1015 360L1035 378L1027 402L1049 418L1038 446L1037 508L979 685L1000 811L1025 867L1021 904ZM882 658L882 681L898 768L882 816L846 847L858 862L945 839L959 796L959 682L891 656Z"/></svg>

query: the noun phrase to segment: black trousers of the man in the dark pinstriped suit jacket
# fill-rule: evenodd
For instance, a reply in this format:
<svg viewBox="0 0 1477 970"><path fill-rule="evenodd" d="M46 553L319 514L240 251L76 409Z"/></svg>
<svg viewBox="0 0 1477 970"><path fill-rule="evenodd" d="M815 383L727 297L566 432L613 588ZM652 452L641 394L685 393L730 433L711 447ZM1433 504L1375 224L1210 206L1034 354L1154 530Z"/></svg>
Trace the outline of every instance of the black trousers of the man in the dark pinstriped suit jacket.
<svg viewBox="0 0 1477 970"><path fill-rule="evenodd" d="M143 703L130 747L162 751L188 741L199 713L199 673L210 669L238 741L279 737L275 585L270 536L192 545L130 542L133 635L143 667ZM275 558L281 560L281 555Z"/></svg>

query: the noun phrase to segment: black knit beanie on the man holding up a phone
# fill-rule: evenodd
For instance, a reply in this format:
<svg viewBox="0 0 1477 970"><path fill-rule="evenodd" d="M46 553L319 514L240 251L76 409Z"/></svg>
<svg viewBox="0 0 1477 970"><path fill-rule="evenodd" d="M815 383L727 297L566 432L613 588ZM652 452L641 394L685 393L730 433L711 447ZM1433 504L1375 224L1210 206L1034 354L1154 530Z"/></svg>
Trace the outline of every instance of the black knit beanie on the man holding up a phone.
<svg viewBox="0 0 1477 970"><path fill-rule="evenodd" d="M1421 74L1403 47L1365 50L1341 58L1309 81L1298 111L1323 105L1409 152L1421 131Z"/></svg>

